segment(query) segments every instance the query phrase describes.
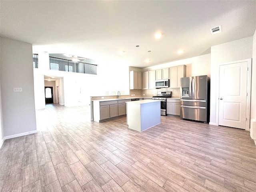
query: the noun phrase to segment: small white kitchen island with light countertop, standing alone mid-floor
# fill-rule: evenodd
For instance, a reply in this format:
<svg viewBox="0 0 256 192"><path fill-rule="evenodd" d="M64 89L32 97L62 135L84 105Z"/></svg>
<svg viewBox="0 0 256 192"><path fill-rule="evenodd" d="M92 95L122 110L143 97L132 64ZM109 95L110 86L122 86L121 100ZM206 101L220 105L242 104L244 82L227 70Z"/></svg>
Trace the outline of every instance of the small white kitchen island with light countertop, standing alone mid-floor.
<svg viewBox="0 0 256 192"><path fill-rule="evenodd" d="M128 128L142 132L161 123L161 101L139 100L126 102Z"/></svg>

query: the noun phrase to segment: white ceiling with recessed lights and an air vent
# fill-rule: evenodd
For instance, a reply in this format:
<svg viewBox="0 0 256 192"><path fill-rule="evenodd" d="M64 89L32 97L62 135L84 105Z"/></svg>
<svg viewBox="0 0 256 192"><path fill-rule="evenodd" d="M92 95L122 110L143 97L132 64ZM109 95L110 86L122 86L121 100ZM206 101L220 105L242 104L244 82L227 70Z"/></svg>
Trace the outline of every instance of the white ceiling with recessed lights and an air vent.
<svg viewBox="0 0 256 192"><path fill-rule="evenodd" d="M253 36L256 29L255 0L1 0L0 9L1 36L31 43L34 53L140 68L208 54L211 46ZM210 28L219 25L222 32L212 35Z"/></svg>

